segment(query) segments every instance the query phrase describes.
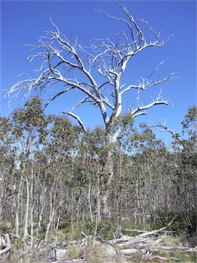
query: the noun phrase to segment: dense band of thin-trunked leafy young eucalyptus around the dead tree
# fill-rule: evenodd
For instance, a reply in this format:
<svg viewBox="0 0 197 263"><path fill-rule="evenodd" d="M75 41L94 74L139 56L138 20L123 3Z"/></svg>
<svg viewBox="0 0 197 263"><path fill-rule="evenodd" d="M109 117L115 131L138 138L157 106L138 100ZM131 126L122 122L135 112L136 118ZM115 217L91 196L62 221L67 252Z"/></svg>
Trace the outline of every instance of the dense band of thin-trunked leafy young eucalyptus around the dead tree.
<svg viewBox="0 0 197 263"><path fill-rule="evenodd" d="M109 145L103 127L84 132L65 115L45 115L39 97L0 116L0 231L30 238L31 247L35 236L47 241L64 227L74 234L81 222L90 231L110 222L118 235L126 221L154 228L161 217L177 215L177 229L195 231L196 109L185 113L170 149L148 125L137 129L133 121ZM103 169L109 147L115 148L110 184Z"/></svg>

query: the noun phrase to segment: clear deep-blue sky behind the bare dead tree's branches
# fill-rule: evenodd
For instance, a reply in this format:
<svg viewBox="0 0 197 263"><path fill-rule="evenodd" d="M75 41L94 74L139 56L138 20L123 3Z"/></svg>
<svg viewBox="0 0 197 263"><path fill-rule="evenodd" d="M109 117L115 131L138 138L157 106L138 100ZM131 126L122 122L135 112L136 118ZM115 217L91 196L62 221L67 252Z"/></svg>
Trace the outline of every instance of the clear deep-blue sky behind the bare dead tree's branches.
<svg viewBox="0 0 197 263"><path fill-rule="evenodd" d="M131 61L129 73L125 76L127 84L136 82L140 76L148 77L162 60L165 60L165 64L161 67L161 77L173 71L179 77L153 88L149 93L144 92L142 99L150 102L150 96L162 88L163 97L169 99L169 105L157 105L147 110L148 115L139 117L136 123L148 120L158 123L168 118L168 126L174 132L180 132L183 115L196 104L196 1L122 1L122 4L127 6L135 18L142 16L157 32L163 29L161 38L166 39L174 34L162 48L145 50ZM73 38L78 36L81 45L90 45L91 38L113 38L114 34L125 29L122 23L95 10L122 16L114 1L1 0L1 116L8 116L14 108L23 107L24 101L18 97L18 102L11 101L9 108L8 99L4 98L5 90L18 82L18 74L32 75L34 69L39 68L39 61L31 64L27 62L32 51L22 45L36 45L36 39L44 35L44 30L53 29L50 17L68 38L71 34ZM66 110L75 99L60 97L49 105L46 113L58 114ZM124 100L132 103L132 98L127 97L126 93ZM90 106L74 113L79 114L86 127L103 124L100 112ZM163 136L159 134L159 137ZM165 134L165 140L169 138Z"/></svg>

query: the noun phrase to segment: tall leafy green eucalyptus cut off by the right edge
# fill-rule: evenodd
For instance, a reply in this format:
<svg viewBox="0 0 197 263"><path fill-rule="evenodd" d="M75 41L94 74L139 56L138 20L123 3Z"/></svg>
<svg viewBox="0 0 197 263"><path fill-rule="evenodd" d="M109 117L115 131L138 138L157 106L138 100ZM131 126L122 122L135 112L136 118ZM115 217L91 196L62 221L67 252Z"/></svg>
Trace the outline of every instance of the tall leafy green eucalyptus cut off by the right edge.
<svg viewBox="0 0 197 263"><path fill-rule="evenodd" d="M185 113L182 121L181 134L174 134L174 152L176 163L176 181L174 181L177 195L177 207L179 213L184 214L187 218L187 224L195 228L196 222L191 221L191 213L196 214L196 123L197 123L197 107L194 105Z"/></svg>

